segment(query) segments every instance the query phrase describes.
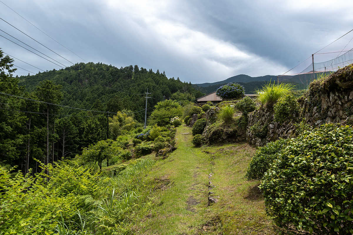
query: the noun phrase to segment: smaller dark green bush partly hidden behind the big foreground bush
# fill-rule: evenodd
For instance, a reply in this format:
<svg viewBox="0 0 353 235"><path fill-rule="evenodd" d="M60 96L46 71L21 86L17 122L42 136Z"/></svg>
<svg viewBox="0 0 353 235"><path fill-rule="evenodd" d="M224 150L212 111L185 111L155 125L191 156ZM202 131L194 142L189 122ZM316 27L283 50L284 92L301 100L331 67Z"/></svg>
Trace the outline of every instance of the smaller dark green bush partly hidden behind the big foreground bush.
<svg viewBox="0 0 353 235"><path fill-rule="evenodd" d="M287 140L280 139L259 147L252 156L245 177L248 180L261 180L265 172L270 168L277 157L280 156L281 150L286 146Z"/></svg>

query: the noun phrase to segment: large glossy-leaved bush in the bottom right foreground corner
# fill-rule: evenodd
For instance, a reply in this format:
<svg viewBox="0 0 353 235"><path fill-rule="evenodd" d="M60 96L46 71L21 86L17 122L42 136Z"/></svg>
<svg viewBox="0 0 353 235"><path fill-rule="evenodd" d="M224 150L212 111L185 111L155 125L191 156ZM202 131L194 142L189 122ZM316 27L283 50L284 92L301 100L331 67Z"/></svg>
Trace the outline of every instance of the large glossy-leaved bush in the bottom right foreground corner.
<svg viewBox="0 0 353 235"><path fill-rule="evenodd" d="M260 185L267 213L287 230L353 233L353 129L325 124L288 141Z"/></svg>

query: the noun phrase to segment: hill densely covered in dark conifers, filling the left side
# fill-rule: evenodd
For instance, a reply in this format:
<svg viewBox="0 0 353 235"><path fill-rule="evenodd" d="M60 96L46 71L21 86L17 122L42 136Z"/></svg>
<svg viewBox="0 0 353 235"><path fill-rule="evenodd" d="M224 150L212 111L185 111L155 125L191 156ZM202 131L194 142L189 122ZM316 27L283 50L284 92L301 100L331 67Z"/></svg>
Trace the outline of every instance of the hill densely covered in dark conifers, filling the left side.
<svg viewBox="0 0 353 235"><path fill-rule="evenodd" d="M80 154L82 148L142 126L158 101L204 95L191 83L138 66L80 63L33 76L16 76L0 50L0 165L33 174Z"/></svg>

